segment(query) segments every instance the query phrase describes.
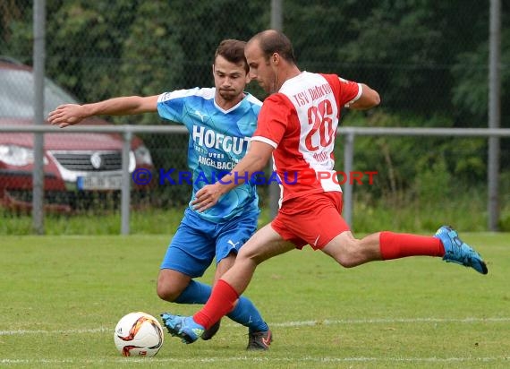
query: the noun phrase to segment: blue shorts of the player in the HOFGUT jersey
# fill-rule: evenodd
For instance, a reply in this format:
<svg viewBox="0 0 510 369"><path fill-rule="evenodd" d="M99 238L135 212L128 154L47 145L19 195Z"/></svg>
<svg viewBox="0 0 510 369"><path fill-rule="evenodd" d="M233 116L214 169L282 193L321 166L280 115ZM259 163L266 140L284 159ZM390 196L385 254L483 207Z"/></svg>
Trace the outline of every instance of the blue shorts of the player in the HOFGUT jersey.
<svg viewBox="0 0 510 369"><path fill-rule="evenodd" d="M225 223L201 219L189 208L168 245L161 269L201 277L216 257L217 263L239 249L257 230L259 211L251 211Z"/></svg>

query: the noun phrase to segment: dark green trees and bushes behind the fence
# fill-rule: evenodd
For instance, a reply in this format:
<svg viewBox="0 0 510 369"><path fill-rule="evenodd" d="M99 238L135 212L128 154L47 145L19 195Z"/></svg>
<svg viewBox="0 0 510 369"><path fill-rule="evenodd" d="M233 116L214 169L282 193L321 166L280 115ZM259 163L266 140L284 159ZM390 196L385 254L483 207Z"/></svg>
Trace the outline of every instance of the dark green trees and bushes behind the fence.
<svg viewBox="0 0 510 369"><path fill-rule="evenodd" d="M501 13L501 125L510 127L510 3ZM32 7L0 3L0 55L32 63ZM338 73L378 90L382 105L344 112L344 125L486 127L489 2L476 0L283 1L283 29L302 70ZM84 102L212 85L221 39L267 29L270 1L47 0L47 76ZM253 84L248 89L265 96ZM110 118L167 124L156 115ZM185 137L144 135L156 167L185 167ZM510 140L502 139L500 225L510 228ZM342 170L342 145L337 145ZM356 170L377 170L376 185L355 188L367 209L476 202L486 216L487 142L483 139L365 137ZM188 188L157 189L157 206L187 202ZM267 203L261 189L262 203ZM147 200L147 199L145 199ZM451 205L457 206L452 202ZM365 210L357 210L362 217ZM359 215L358 215L359 214ZM362 221L367 221L363 219Z"/></svg>

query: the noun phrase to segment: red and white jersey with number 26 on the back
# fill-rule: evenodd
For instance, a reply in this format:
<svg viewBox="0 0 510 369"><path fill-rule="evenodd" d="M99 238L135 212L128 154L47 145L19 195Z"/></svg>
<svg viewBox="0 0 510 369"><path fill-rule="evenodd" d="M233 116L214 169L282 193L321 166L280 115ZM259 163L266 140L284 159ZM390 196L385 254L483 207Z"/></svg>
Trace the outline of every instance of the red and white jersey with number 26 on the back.
<svg viewBox="0 0 510 369"><path fill-rule="evenodd" d="M333 148L342 107L360 98L361 84L336 74L302 72L269 96L252 141L273 146L280 205L309 193L341 192Z"/></svg>

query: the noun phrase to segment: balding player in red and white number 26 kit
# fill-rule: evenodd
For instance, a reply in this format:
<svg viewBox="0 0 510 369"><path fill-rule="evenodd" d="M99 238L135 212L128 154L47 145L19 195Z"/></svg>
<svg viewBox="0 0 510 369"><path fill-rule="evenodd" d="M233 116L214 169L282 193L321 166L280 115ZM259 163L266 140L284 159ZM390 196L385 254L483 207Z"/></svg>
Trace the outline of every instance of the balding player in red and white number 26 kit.
<svg viewBox="0 0 510 369"><path fill-rule="evenodd" d="M334 172L336 128L342 107L376 107L378 92L336 74L302 72L295 64L291 42L276 30L255 35L244 53L251 80L271 95L260 110L250 150L231 174L200 189L195 209L209 209L239 185L240 178L248 179L265 167L271 156L277 176L293 173L297 180L292 184L281 181L276 218L251 236L198 313L192 317L162 314L168 330L186 343L195 341L234 308L259 263L304 245L326 253L345 268L428 255L487 274L480 254L463 243L451 227L440 227L434 236L382 231L355 238L342 218L342 189ZM315 173L311 180L310 171ZM269 345L271 332L263 339Z"/></svg>

